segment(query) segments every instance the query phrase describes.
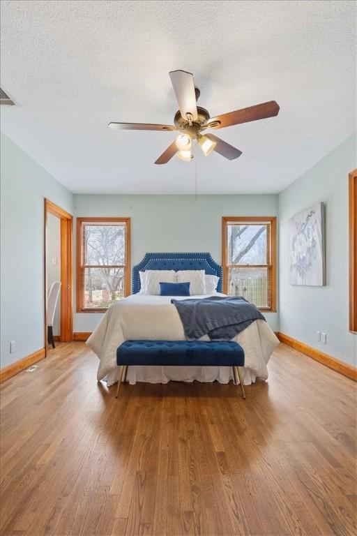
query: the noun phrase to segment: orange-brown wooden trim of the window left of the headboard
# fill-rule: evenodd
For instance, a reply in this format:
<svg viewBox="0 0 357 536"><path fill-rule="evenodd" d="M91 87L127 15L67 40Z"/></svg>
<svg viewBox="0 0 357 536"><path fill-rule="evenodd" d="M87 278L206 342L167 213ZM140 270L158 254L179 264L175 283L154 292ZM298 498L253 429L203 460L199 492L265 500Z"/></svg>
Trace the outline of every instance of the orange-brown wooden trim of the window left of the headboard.
<svg viewBox="0 0 357 536"><path fill-rule="evenodd" d="M106 313L107 308L105 309L91 309L91 308L84 308L83 307L83 296L80 292L81 289L81 283L83 278L84 270L82 269L81 265L81 259L82 259L82 223L85 222L93 222L93 223L125 223L126 224L126 266L124 267L124 296L130 295L130 218L77 218L77 232L76 232L76 240L77 240L77 249L76 249L76 263L77 263L77 280L76 280L76 310L77 313Z"/></svg>

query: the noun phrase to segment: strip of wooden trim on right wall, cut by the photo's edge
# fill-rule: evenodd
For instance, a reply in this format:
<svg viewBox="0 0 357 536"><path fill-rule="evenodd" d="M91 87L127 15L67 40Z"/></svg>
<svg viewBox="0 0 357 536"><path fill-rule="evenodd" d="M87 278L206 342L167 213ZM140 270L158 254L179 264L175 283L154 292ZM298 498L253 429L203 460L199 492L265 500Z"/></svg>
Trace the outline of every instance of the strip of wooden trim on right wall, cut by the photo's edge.
<svg viewBox="0 0 357 536"><path fill-rule="evenodd" d="M349 173L349 331L357 332L357 169Z"/></svg>

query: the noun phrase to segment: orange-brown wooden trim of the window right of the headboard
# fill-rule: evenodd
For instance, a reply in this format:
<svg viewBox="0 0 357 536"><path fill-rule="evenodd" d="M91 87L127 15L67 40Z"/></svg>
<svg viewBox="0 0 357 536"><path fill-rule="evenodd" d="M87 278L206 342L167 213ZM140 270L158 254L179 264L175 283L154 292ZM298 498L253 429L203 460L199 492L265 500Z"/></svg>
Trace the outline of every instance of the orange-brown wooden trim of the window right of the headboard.
<svg viewBox="0 0 357 536"><path fill-rule="evenodd" d="M268 223L271 236L271 307L260 308L259 311L276 313L277 297L277 248L276 248L276 216L222 216L222 271L223 271L223 292L228 294L228 270L227 264L227 225L229 223ZM243 266L243 265L241 265ZM258 267L258 265L249 265ZM266 266L266 265L261 265ZM268 265L269 266L269 265Z"/></svg>

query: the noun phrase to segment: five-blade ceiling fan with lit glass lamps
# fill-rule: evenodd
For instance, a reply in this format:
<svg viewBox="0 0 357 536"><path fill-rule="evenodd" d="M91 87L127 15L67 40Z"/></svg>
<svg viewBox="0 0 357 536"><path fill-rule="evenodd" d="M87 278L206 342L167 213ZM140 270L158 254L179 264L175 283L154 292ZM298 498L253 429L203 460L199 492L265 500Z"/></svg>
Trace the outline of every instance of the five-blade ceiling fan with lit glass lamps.
<svg viewBox="0 0 357 536"><path fill-rule="evenodd" d="M279 105L275 101L256 104L235 112L210 117L205 108L197 106L200 91L193 82L192 73L185 70L172 70L170 73L174 92L179 103L179 110L174 117L174 126L142 123L109 123L109 128L133 131L179 131L176 140L172 142L155 164L166 164L176 154L181 160L190 162L192 142L197 140L205 156L212 151L221 154L228 160L241 156L242 152L233 145L223 141L213 134L202 134L206 128L225 128L226 126L257 121L278 115Z"/></svg>

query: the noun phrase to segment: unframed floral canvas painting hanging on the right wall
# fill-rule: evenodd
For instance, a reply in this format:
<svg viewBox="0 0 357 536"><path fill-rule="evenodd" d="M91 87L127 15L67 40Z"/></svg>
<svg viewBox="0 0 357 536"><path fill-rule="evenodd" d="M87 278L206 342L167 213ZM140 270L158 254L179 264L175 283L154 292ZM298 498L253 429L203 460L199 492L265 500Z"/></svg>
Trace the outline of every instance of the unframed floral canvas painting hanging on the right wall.
<svg viewBox="0 0 357 536"><path fill-rule="evenodd" d="M324 203L289 220L289 283L325 285Z"/></svg>

